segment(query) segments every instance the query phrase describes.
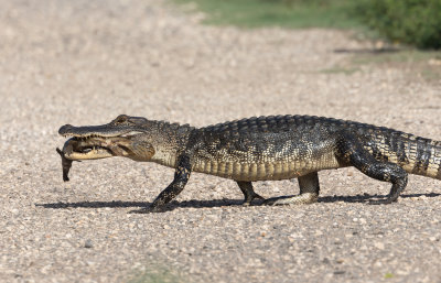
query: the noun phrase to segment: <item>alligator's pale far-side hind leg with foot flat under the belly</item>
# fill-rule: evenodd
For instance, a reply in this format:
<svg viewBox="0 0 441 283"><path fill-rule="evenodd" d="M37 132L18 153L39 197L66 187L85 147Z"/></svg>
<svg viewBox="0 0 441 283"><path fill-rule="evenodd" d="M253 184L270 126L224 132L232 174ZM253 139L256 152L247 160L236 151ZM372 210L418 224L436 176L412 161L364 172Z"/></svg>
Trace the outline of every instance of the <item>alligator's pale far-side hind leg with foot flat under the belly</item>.
<svg viewBox="0 0 441 283"><path fill-rule="evenodd" d="M309 173L299 177L300 194L291 197L276 197L267 199L266 205L303 205L313 204L319 199L319 174Z"/></svg>

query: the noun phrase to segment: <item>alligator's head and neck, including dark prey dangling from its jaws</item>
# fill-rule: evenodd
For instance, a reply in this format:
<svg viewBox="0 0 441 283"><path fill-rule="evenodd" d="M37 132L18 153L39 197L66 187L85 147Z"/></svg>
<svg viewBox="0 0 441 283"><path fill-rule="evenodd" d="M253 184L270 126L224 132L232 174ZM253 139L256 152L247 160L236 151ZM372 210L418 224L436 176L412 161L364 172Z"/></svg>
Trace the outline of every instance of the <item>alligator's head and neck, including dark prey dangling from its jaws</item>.
<svg viewBox="0 0 441 283"><path fill-rule="evenodd" d="M63 179L68 181L67 174L73 161L111 156L152 161L174 167L178 151L184 148L193 129L189 124L180 126L127 115L120 115L101 126L65 124L58 133L69 139L63 150L56 149L62 156Z"/></svg>

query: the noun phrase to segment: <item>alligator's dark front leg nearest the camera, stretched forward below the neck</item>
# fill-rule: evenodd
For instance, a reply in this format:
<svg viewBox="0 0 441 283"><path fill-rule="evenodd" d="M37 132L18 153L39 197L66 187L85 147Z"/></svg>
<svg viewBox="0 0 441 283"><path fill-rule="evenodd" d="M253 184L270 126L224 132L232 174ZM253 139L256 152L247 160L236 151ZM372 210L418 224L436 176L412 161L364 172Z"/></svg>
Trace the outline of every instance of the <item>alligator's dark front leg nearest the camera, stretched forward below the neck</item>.
<svg viewBox="0 0 441 283"><path fill-rule="evenodd" d="M164 205L175 198L185 187L192 172L190 157L184 155L180 157L173 182L159 194L154 202L146 208L135 210L137 214L160 213L164 210Z"/></svg>

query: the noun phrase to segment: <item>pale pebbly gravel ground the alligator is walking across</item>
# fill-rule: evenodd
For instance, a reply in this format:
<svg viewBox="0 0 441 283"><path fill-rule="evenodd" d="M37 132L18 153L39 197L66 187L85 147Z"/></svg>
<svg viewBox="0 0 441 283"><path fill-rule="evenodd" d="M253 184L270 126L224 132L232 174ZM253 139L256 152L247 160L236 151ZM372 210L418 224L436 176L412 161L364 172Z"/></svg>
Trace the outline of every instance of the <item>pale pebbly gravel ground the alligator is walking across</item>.
<svg viewBox="0 0 441 283"><path fill-rule="evenodd" d="M163 214L133 215L173 170L75 163L65 123L127 113L194 126L305 113L441 140L441 81L406 68L323 72L370 45L330 30L203 26L158 0L0 2L0 281L441 282L440 182L389 186L354 168L320 173L318 204L241 207L232 181L193 174ZM294 194L260 182L266 196Z"/></svg>

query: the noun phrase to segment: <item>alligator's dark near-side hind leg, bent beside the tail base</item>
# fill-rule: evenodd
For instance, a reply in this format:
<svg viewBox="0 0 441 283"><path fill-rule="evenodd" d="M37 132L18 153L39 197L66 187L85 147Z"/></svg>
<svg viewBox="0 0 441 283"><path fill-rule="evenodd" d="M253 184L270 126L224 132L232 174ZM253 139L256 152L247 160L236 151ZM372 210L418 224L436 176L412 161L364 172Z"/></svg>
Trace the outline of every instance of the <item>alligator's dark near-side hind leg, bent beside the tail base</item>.
<svg viewBox="0 0 441 283"><path fill-rule="evenodd" d="M402 167L390 162L377 161L352 137L343 137L337 142L337 157L342 162L356 167L372 178L392 184L386 199L372 200L370 204L381 205L397 202L399 194L407 185L407 173Z"/></svg>

